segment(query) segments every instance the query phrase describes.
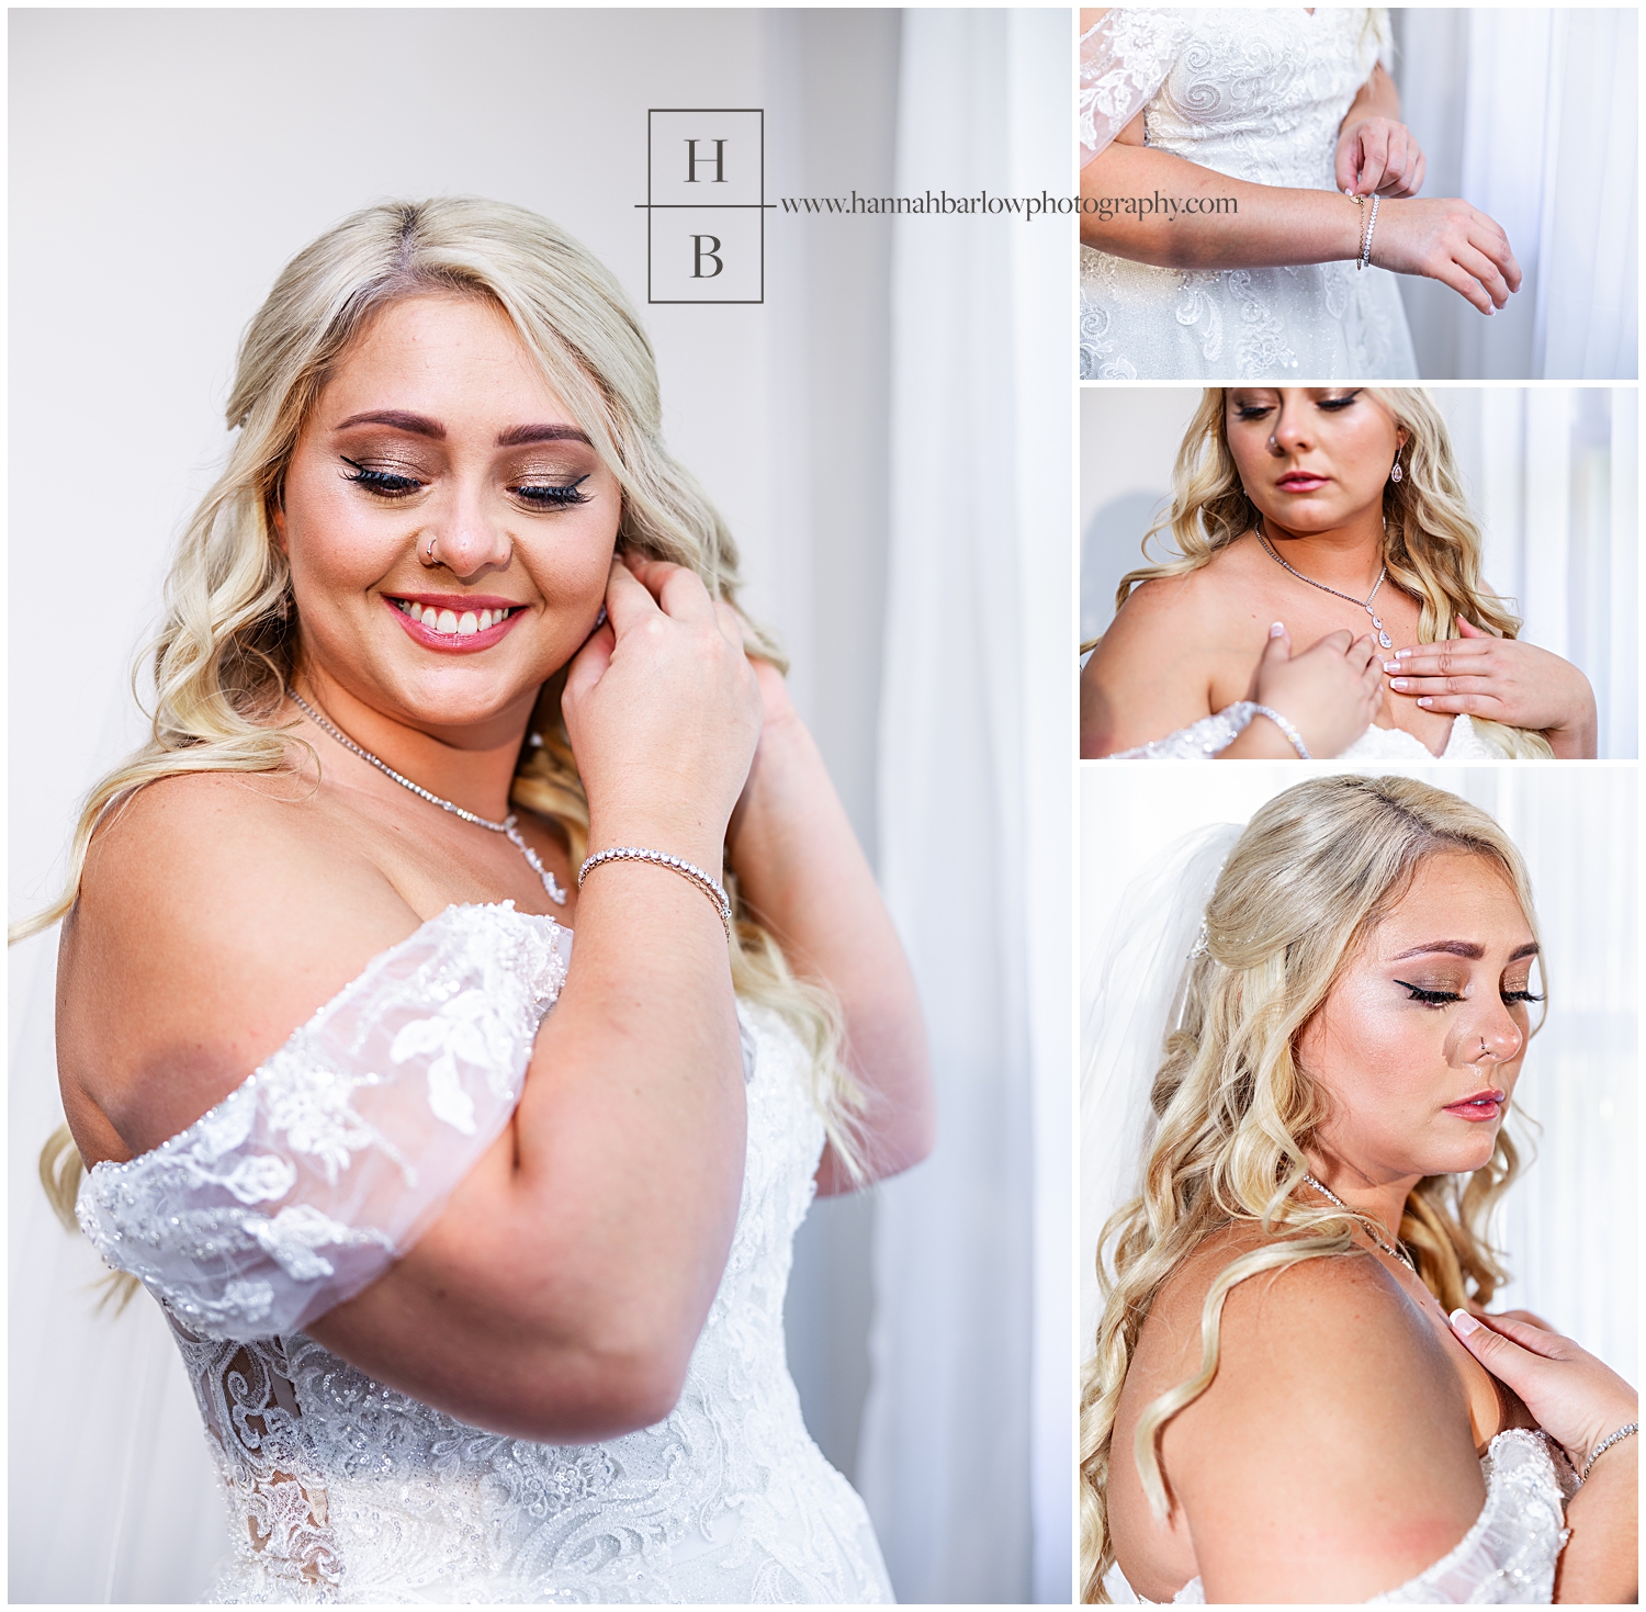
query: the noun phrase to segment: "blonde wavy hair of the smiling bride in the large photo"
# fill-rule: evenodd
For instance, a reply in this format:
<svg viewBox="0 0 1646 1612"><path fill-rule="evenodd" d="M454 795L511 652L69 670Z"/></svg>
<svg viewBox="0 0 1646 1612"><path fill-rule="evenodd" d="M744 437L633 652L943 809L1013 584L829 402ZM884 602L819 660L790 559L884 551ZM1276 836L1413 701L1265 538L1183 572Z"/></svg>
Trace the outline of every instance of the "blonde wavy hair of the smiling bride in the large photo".
<svg viewBox="0 0 1646 1612"><path fill-rule="evenodd" d="M178 543L165 621L145 652L153 670L148 743L87 795L63 894L13 925L21 940L74 906L86 853L105 813L145 784L183 772L273 772L293 746L281 718L300 622L275 542L286 464L316 398L390 303L430 293L484 298L583 428L622 489L617 550L686 565L737 609L737 547L704 491L663 446L657 361L617 278L548 219L469 196L362 207L305 247L247 326L227 402L229 461ZM787 670L775 641L741 609L752 655ZM561 677L538 698L510 799L558 825L573 864L588 850L589 807L560 713ZM732 985L774 1008L807 1047L813 1093L836 1156L861 1179L863 1093L846 1070L839 1009L795 976L782 948L737 897ZM67 1126L46 1143L41 1182L74 1225L82 1161Z"/></svg>

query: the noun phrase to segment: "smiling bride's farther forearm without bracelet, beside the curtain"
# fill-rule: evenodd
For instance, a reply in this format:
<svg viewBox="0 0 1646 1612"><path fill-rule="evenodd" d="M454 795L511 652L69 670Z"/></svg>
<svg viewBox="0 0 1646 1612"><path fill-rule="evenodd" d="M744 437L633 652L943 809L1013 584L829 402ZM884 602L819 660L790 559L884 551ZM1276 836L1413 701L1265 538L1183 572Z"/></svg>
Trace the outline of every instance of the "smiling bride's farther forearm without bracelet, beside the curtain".
<svg viewBox="0 0 1646 1612"><path fill-rule="evenodd" d="M795 971L839 999L848 1064L866 1097L871 1177L917 1164L935 1136L920 1001L846 808L798 716L765 724L728 843L751 911ZM825 1154L820 1190L851 1184Z"/></svg>

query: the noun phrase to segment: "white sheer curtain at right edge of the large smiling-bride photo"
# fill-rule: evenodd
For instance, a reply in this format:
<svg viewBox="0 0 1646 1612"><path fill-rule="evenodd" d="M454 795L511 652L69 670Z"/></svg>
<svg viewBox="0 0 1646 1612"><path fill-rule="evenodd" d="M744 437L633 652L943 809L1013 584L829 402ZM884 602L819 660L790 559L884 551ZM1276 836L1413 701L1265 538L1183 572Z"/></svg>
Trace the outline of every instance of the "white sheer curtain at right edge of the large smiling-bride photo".
<svg viewBox="0 0 1646 1612"><path fill-rule="evenodd" d="M1072 186L1070 79L1063 12L907 12L899 193ZM1070 231L899 217L892 275L881 876L940 1144L876 1210L858 1479L899 1597L1065 1600Z"/></svg>

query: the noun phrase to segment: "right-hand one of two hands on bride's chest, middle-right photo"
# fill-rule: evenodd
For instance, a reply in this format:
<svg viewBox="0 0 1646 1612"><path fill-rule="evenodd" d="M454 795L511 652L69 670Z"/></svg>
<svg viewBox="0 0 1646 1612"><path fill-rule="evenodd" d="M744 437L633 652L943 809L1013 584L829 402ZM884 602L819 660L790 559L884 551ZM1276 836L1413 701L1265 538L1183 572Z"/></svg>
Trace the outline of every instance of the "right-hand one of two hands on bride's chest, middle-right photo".
<svg viewBox="0 0 1646 1612"><path fill-rule="evenodd" d="M1389 687L1425 711L1467 711L1547 736L1562 757L1597 749L1595 692L1570 660L1524 639L1500 639L1457 617L1462 637L1396 650Z"/></svg>

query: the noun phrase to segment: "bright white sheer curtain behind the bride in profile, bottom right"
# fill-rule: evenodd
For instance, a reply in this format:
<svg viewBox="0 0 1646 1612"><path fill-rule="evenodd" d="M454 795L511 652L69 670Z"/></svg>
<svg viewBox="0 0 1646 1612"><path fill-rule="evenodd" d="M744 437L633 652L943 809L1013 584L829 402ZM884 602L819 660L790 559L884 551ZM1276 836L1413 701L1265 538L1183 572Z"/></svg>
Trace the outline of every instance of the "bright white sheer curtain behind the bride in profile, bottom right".
<svg viewBox="0 0 1646 1612"><path fill-rule="evenodd" d="M1244 823L1262 802L1333 764L1180 762L1081 767L1080 952L1083 978L1126 886L1174 840ZM1167 777L1167 772L1177 774ZM1386 766L1490 812L1526 856L1547 958L1547 1023L1526 1054L1516 1108L1523 1172L1495 1222L1514 1281L1496 1309L1531 1309L1639 1380L1638 790L1634 767ZM1529 1162L1526 1153L1534 1154ZM1109 1202L1132 1189L1108 1182ZM1083 1190L1086 1182L1083 1182ZM1093 1218L1081 1246L1081 1311ZM1090 1350L1086 1337L1083 1347Z"/></svg>

